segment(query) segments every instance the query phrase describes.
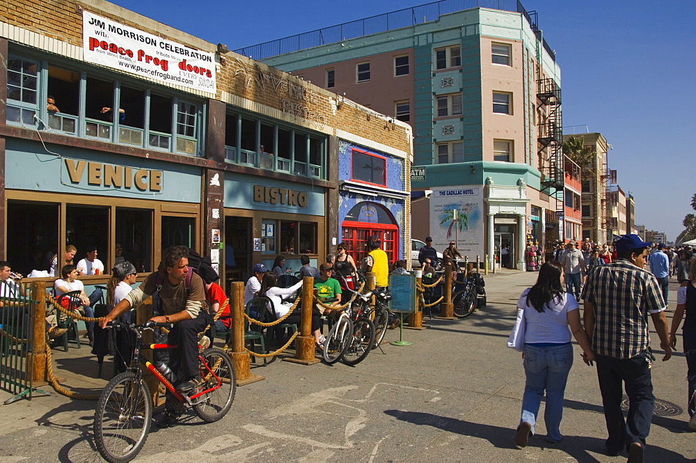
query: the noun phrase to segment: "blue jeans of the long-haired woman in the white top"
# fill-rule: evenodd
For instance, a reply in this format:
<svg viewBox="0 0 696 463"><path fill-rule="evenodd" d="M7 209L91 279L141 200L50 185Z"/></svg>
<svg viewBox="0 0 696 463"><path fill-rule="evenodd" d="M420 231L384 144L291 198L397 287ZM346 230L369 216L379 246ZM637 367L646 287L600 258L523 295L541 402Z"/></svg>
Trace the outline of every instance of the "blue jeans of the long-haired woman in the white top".
<svg viewBox="0 0 696 463"><path fill-rule="evenodd" d="M524 370L527 382L522 398L522 417L520 424L537 422L541 395L546 391L546 439L560 441L559 426L563 417L563 395L568 379L568 372L573 366L573 346L571 343L548 347L524 345Z"/></svg>

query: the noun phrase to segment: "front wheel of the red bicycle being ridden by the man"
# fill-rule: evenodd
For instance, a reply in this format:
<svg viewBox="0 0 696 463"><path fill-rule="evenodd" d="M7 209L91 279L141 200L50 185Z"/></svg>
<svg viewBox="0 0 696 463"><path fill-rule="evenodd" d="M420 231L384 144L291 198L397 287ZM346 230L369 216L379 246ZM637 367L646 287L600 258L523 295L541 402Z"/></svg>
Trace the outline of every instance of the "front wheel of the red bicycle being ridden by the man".
<svg viewBox="0 0 696 463"><path fill-rule="evenodd" d="M110 463L129 462L148 439L152 397L147 384L132 371L116 375L97 401L94 438L100 455Z"/></svg>

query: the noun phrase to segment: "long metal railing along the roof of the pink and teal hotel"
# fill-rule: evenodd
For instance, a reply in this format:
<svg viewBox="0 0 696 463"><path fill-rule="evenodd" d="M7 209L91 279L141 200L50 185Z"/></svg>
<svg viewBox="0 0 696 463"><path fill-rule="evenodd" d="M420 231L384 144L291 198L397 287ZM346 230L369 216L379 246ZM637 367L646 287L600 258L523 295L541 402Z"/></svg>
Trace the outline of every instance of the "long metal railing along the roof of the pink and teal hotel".
<svg viewBox="0 0 696 463"><path fill-rule="evenodd" d="M344 22L335 26L316 29L299 33L294 36L270 40L257 45L243 47L234 50L235 53L260 60L271 56L297 52L302 49L319 47L329 43L350 40L363 36L370 36L375 33L402 29L403 27L415 26L425 22L434 22L440 19L441 15L455 13L471 8L491 8L493 10L513 11L521 13L530 24L533 31L539 38L539 28L532 15L519 0L440 0L432 3L425 3L403 10L383 13L381 15L357 19L356 21ZM535 14L536 17L536 14ZM555 53L548 46L546 40L541 38L544 49L555 61Z"/></svg>

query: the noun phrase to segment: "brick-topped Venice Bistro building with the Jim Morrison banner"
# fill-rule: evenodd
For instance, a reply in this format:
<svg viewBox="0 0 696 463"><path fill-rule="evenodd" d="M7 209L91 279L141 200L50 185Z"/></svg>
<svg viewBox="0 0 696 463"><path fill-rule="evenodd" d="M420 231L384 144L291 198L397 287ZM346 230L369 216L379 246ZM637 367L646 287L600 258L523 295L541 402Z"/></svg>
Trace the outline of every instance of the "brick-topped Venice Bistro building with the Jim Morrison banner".
<svg viewBox="0 0 696 463"><path fill-rule="evenodd" d="M68 244L110 269L120 244L150 272L186 244L228 281L278 255L323 262L346 230L356 251L387 231L392 259L409 250L405 123L100 0L3 3L0 56L0 253L17 269ZM379 182L351 174L365 157L388 166ZM347 220L340 182L378 217Z"/></svg>

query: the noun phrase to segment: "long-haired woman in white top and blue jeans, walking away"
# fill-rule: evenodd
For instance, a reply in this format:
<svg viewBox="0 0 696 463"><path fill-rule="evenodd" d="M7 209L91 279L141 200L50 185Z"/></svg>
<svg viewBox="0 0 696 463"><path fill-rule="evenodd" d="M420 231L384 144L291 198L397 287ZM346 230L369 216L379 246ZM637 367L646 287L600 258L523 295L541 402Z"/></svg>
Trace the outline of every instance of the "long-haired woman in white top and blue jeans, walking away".
<svg viewBox="0 0 696 463"><path fill-rule="evenodd" d="M580 324L578 301L564 292L563 266L546 262L539 269L537 283L524 290L517 301L525 318L524 370L527 377L522 399L522 416L515 443L525 447L534 434L541 395L546 391L546 441L562 439L559 426L563 416L563 395L568 373L573 365L571 331L583 349L583 360L592 365L594 352L590 339ZM568 329L570 327L570 329Z"/></svg>

